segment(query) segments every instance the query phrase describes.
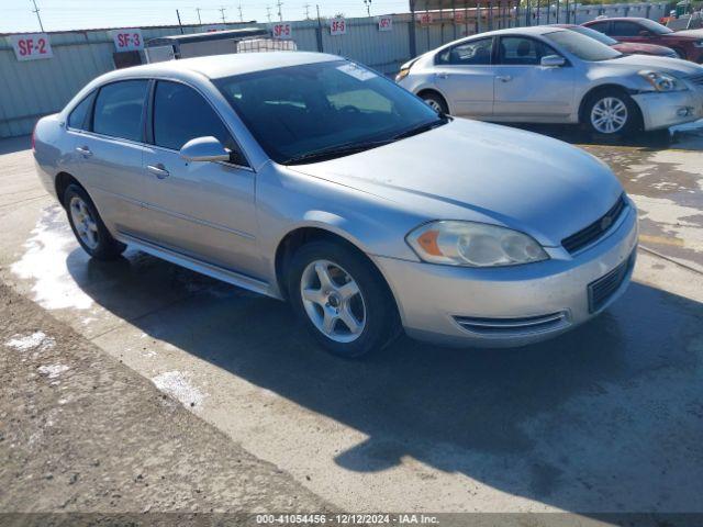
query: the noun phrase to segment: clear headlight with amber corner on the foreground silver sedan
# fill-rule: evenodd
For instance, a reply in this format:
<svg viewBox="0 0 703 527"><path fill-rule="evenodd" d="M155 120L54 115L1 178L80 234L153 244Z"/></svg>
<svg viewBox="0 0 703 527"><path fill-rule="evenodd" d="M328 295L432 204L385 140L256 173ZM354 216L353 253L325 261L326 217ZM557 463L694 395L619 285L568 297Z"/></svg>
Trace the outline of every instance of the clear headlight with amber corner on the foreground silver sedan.
<svg viewBox="0 0 703 527"><path fill-rule="evenodd" d="M526 234L486 223L432 222L405 239L422 260L447 266L515 266L549 258Z"/></svg>

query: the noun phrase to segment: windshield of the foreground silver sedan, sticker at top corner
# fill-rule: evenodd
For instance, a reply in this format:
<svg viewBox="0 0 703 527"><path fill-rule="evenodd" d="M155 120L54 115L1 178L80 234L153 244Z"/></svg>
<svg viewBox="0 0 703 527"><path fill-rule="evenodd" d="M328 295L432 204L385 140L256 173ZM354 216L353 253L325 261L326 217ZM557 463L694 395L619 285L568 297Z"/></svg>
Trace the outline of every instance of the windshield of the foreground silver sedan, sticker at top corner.
<svg viewBox="0 0 703 527"><path fill-rule="evenodd" d="M347 60L213 81L277 162L353 154L447 122L415 96Z"/></svg>

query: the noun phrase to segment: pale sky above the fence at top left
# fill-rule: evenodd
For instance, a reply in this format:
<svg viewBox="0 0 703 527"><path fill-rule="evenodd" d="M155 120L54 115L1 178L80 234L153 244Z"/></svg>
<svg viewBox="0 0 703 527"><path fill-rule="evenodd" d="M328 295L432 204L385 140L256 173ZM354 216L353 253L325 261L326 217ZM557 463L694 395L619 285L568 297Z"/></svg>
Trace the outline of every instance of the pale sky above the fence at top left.
<svg viewBox="0 0 703 527"><path fill-rule="evenodd" d="M183 24L198 23L197 8L204 23L222 22L221 7L227 22L239 21L239 7L245 21L278 20L278 0L36 0L45 31L79 30L90 27L121 27L133 25L169 25L178 23L176 9ZM315 4L324 15L344 13L365 16L364 0L281 0L283 20L301 20L309 4L314 16ZM371 14L406 12L408 0L372 0ZM266 8L269 8L267 11ZM32 0L0 0L0 33L38 31Z"/></svg>

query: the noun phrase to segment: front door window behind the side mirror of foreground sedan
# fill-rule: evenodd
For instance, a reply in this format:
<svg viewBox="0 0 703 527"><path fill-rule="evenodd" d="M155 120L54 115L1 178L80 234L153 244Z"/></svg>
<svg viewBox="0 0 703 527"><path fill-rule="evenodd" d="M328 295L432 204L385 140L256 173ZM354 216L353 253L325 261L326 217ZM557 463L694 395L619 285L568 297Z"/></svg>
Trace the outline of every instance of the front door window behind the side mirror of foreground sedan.
<svg viewBox="0 0 703 527"><path fill-rule="evenodd" d="M180 82L159 80L154 96L154 144L180 150L190 139L205 136L236 150L224 123L200 93Z"/></svg>

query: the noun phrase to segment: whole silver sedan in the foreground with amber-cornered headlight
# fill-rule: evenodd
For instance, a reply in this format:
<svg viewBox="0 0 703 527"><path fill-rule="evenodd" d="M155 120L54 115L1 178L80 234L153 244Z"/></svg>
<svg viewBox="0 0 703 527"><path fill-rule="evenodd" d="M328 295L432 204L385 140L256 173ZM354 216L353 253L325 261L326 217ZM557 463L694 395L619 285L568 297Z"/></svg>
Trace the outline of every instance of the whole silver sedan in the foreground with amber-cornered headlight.
<svg viewBox="0 0 703 527"><path fill-rule="evenodd" d="M403 328L538 341L602 312L635 261L635 206L605 165L331 55L114 71L42 119L34 148L93 258L130 245L289 300L345 357Z"/></svg>

